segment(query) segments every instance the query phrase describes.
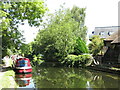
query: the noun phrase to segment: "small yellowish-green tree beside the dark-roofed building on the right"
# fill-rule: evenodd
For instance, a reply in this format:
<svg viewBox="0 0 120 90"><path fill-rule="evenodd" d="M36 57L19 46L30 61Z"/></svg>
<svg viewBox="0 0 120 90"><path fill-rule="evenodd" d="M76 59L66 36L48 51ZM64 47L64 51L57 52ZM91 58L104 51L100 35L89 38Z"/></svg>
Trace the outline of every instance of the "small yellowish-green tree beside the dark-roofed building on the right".
<svg viewBox="0 0 120 90"><path fill-rule="evenodd" d="M90 53L98 55L104 46L103 39L100 38L98 35L94 35L91 38L91 43L88 45Z"/></svg>

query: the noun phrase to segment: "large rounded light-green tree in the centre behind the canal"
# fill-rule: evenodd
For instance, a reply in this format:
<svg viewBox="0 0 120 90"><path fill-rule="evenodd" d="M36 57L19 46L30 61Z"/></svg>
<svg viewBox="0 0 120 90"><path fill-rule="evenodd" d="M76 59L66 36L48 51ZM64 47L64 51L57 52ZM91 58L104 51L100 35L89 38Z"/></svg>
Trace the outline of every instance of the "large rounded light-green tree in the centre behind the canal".
<svg viewBox="0 0 120 90"><path fill-rule="evenodd" d="M35 54L41 53L46 61L57 62L74 52L76 38L83 32L69 9L60 9L50 15L48 23L35 39ZM86 31L84 31L86 32ZM86 34L84 34L85 36ZM82 37L81 37L82 38Z"/></svg>

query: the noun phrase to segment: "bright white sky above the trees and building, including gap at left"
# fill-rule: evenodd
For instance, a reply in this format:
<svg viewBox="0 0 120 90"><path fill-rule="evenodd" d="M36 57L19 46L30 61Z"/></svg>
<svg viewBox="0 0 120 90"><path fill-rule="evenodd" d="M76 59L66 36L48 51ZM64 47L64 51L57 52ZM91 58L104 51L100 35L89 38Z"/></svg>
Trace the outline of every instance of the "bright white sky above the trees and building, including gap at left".
<svg viewBox="0 0 120 90"><path fill-rule="evenodd" d="M60 5L65 3L65 8L72 8L76 5L86 8L85 25L88 34L94 31L95 27L118 26L118 2L120 0L47 0L45 1L50 13L58 10ZM22 25L26 43L34 40L39 28Z"/></svg>

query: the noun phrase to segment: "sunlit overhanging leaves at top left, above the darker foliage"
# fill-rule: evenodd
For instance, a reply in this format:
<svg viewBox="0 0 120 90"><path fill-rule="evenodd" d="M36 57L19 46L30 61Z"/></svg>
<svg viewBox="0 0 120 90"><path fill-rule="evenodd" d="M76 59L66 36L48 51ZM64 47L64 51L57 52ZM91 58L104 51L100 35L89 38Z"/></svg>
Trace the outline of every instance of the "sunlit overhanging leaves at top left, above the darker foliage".
<svg viewBox="0 0 120 90"><path fill-rule="evenodd" d="M27 20L30 26L39 26L42 21L41 18L47 10L42 0L34 2L24 2L24 0L23 2L1 2L1 5L2 11L7 13L7 18L12 20L12 25Z"/></svg>

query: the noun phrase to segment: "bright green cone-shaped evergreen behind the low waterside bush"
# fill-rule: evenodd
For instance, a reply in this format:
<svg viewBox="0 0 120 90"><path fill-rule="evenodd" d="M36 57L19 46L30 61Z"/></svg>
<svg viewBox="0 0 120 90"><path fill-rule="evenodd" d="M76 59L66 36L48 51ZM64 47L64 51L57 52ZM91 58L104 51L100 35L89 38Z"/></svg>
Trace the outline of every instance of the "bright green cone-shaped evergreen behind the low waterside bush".
<svg viewBox="0 0 120 90"><path fill-rule="evenodd" d="M84 54L84 53L89 53L88 48L85 42L81 38L78 38L76 39L76 46L75 46L74 54L79 55L79 54Z"/></svg>

